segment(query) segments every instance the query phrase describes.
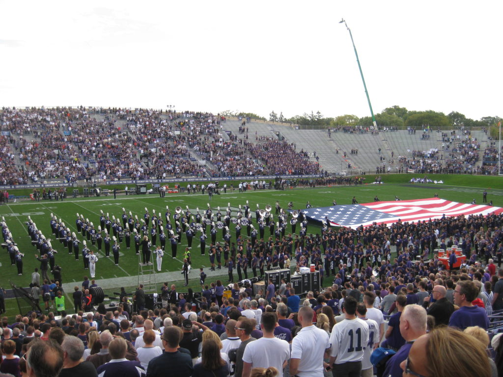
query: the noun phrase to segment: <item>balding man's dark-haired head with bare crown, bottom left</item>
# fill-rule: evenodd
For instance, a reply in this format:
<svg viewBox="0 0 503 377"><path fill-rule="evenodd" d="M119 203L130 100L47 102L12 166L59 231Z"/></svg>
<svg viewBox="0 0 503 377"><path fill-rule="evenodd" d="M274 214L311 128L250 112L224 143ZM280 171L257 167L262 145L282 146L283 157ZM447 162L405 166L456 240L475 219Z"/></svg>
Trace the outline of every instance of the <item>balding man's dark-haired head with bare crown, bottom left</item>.
<svg viewBox="0 0 503 377"><path fill-rule="evenodd" d="M63 350L54 340L33 340L26 357L29 377L56 377L63 367Z"/></svg>

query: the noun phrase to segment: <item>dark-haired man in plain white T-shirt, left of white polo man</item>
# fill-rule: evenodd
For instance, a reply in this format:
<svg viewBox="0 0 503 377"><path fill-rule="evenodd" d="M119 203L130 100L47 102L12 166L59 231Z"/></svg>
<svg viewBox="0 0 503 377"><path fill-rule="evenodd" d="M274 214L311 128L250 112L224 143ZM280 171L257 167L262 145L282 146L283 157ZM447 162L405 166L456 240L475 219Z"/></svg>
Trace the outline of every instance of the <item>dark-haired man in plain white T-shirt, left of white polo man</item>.
<svg viewBox="0 0 503 377"><path fill-rule="evenodd" d="M290 358L290 345L286 340L274 336L274 328L278 323L276 313L264 313L262 315L261 328L264 336L246 345L243 353L242 377L249 377L251 368L268 368L274 366L283 373Z"/></svg>

